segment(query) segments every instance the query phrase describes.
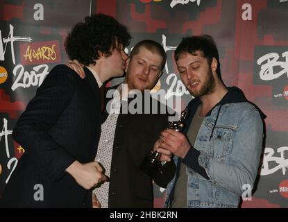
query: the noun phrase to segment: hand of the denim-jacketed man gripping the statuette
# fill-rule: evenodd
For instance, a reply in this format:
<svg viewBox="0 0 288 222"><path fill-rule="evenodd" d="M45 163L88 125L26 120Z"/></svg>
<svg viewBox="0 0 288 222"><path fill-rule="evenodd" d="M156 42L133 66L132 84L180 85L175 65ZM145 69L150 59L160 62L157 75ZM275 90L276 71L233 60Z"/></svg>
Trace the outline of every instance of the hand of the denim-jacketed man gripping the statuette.
<svg viewBox="0 0 288 222"><path fill-rule="evenodd" d="M163 130L160 135L160 147L184 158L192 146L183 133L168 129Z"/></svg>

